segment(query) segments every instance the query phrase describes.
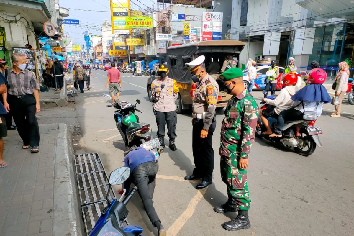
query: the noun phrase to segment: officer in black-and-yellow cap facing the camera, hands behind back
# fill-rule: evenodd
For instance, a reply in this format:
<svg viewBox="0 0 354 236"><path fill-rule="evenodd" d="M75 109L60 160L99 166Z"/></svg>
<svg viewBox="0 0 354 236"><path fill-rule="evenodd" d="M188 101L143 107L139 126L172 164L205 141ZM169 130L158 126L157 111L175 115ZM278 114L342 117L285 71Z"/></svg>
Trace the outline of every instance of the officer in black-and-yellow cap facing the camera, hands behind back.
<svg viewBox="0 0 354 236"><path fill-rule="evenodd" d="M178 97L178 85L176 80L170 79L169 68L167 65L161 65L158 70L160 79L153 80L151 84L152 97L154 102L154 109L156 110L156 123L157 123L157 137L161 146L165 146L165 125L169 131L167 135L170 138L170 149L176 151L175 138L176 135L176 104L175 101Z"/></svg>

